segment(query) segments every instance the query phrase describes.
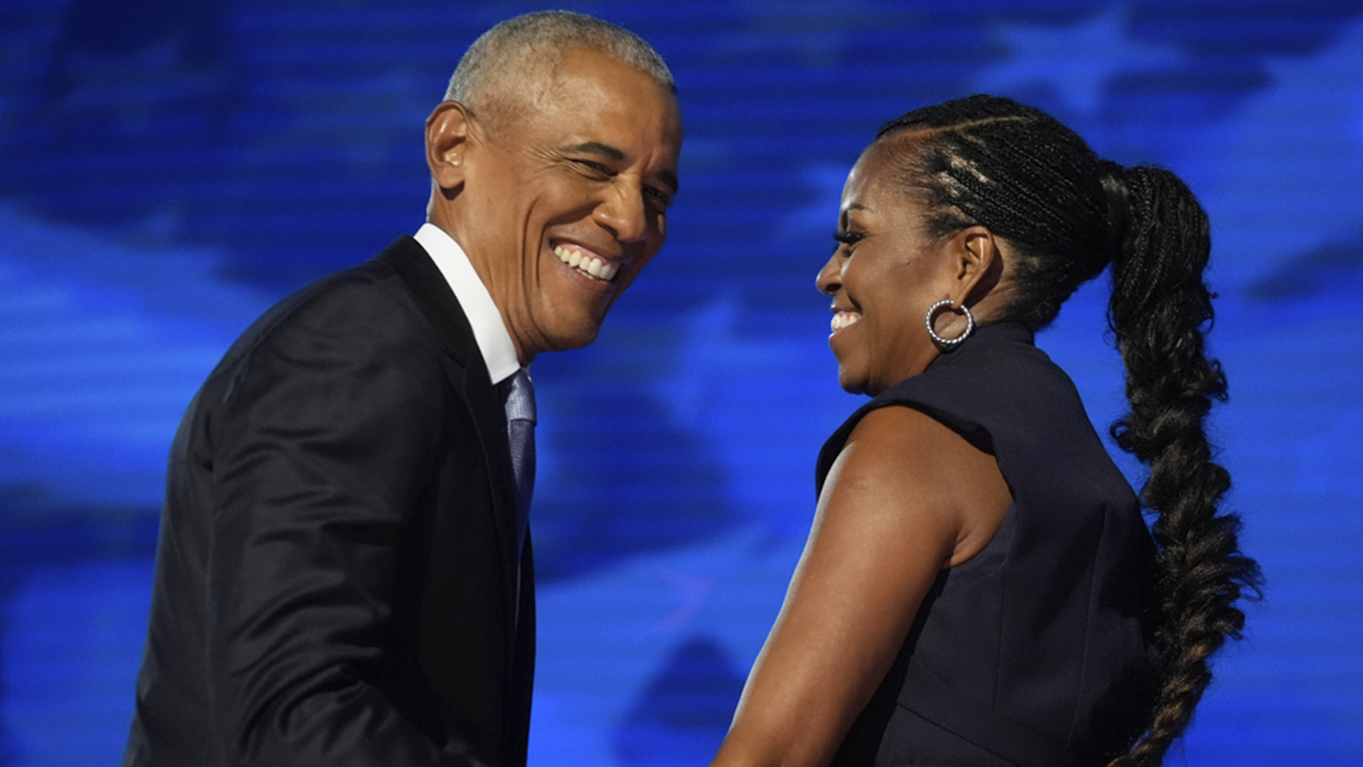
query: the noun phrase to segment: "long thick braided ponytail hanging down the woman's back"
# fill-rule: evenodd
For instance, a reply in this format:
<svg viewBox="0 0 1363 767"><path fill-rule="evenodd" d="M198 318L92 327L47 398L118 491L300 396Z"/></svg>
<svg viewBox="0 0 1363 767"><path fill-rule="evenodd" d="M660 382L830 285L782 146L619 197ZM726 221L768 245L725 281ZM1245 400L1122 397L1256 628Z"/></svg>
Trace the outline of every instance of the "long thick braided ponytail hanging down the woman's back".
<svg viewBox="0 0 1363 767"><path fill-rule="evenodd" d="M1159 764L1187 727L1212 681L1208 659L1240 637L1235 603L1258 566L1239 553L1239 519L1217 513L1231 475L1213 463L1204 422L1225 400L1225 374L1204 353L1212 293L1202 281L1212 250L1206 214L1174 173L1124 172L1129 232L1112 265L1108 325L1126 363L1131 411L1112 426L1123 450L1150 467L1141 501L1159 512L1160 688L1153 721L1114 767Z"/></svg>

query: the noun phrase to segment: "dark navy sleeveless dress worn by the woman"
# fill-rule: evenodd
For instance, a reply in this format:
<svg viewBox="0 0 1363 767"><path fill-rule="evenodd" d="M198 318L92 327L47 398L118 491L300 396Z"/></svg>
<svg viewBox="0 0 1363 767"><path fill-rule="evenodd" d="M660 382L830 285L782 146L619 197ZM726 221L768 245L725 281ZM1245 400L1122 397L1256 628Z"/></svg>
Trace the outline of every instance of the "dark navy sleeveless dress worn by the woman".
<svg viewBox="0 0 1363 767"><path fill-rule="evenodd" d="M942 570L838 766L1104 764L1154 689L1154 545L1074 384L1005 322L856 411L920 409L992 453L1013 491L994 539Z"/></svg>

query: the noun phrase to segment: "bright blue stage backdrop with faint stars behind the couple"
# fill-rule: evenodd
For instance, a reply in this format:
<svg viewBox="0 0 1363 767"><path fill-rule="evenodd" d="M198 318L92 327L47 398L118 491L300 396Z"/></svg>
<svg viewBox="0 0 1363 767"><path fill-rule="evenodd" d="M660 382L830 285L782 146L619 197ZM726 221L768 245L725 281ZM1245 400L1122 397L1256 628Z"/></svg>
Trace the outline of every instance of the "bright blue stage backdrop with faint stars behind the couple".
<svg viewBox="0 0 1363 767"><path fill-rule="evenodd" d="M536 362L532 764L703 764L857 407L814 274L875 128L973 91L1182 173L1214 221L1216 414L1268 600L1171 764L1363 753L1363 3L568 3L664 53L671 242ZM414 232L423 120L525 3L0 4L0 764L116 764L164 461L273 302ZM1105 289L1039 343L1105 427ZM1123 464L1130 467L1130 464Z"/></svg>

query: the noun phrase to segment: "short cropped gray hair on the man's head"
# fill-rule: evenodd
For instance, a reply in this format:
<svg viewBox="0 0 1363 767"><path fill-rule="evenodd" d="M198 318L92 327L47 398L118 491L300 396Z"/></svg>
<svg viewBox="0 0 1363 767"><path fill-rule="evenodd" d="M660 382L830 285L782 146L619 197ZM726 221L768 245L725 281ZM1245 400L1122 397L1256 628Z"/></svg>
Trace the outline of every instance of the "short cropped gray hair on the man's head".
<svg viewBox="0 0 1363 767"><path fill-rule="evenodd" d="M652 75L671 93L676 93L672 71L662 56L632 31L572 11L536 11L507 19L473 41L459 59L459 66L444 91L446 101L458 101L470 109L503 101L503 81L518 75L526 81L544 81L567 48L578 46L607 56ZM493 112L500 112L492 106ZM485 115L488 116L488 115ZM500 115L492 115L497 119Z"/></svg>

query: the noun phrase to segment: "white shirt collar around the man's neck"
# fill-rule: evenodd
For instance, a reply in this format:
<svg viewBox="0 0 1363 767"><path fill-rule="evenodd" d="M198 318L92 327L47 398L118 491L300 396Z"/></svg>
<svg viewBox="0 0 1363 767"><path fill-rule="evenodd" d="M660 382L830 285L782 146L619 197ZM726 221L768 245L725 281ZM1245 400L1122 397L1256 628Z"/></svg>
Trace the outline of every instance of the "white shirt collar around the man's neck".
<svg viewBox="0 0 1363 767"><path fill-rule="evenodd" d="M440 269L440 274L450 283L454 298L463 307L469 326L473 328L473 340L483 352L483 362L488 367L492 384L500 384L521 370L521 362L515 355L515 344L511 333L507 332L506 322L497 304L492 302L492 293L473 269L473 262L463 252L459 243L454 242L444 229L433 224L423 224L414 235L417 243L425 248L431 261Z"/></svg>

